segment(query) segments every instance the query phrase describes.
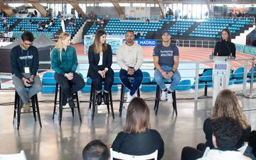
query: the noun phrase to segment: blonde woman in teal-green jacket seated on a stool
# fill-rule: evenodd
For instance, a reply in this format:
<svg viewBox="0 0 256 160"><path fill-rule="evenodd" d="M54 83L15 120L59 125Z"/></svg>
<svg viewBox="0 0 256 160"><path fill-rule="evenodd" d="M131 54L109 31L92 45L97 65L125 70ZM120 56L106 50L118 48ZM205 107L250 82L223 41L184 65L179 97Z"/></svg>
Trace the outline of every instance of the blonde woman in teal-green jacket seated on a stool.
<svg viewBox="0 0 256 160"><path fill-rule="evenodd" d="M58 42L51 53L51 65L55 71L54 78L60 84L65 96L63 96L63 105L67 103L68 98L68 104L70 108L73 108L75 103L72 95L85 86L85 81L79 74L75 73L78 67L78 57L75 48L70 46L70 42L68 33L60 34Z"/></svg>

